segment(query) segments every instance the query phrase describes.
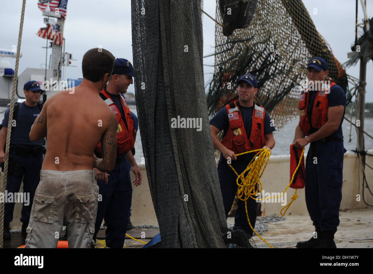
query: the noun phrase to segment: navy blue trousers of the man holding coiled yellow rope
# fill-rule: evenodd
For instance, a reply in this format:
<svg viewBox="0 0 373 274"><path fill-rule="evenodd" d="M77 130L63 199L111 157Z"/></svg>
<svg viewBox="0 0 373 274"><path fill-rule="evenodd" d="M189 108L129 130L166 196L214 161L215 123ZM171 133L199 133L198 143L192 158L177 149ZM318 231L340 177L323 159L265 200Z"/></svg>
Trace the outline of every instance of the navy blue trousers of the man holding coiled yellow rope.
<svg viewBox="0 0 373 274"><path fill-rule="evenodd" d="M241 174L249 164L250 160L247 162L233 161L232 166L238 174ZM223 195L223 204L225 210L225 216L228 217L229 211L231 211L232 204L237 193L238 185L236 183L237 175L233 172L231 167L228 166L227 161L220 156L219 164L217 166L217 174L219 176L220 189ZM238 208L235 214L235 226L241 227L251 236L253 236L253 230L251 230L246 217L245 202L237 199ZM249 215L249 220L251 226L255 227L258 203L249 198L247 201L247 213Z"/></svg>

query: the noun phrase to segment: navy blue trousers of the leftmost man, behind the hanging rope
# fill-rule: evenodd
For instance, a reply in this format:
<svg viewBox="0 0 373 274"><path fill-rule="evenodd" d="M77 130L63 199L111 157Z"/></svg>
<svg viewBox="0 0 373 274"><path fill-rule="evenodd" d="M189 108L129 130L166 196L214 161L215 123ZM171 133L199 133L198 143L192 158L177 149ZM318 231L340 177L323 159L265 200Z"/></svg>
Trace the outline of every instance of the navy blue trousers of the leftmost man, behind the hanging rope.
<svg viewBox="0 0 373 274"><path fill-rule="evenodd" d="M30 220L32 201L34 200L35 190L40 182L40 170L43 164L42 152L37 155L32 153L22 155L12 152L13 161L17 166L14 168L18 176L10 175L8 173L6 179L6 190L8 193L19 192L23 176L23 192L29 193L29 205L23 203L21 211L21 222L28 223ZM8 167L9 171L9 167ZM4 223L10 223L13 220L13 211L15 203L5 203L4 205Z"/></svg>

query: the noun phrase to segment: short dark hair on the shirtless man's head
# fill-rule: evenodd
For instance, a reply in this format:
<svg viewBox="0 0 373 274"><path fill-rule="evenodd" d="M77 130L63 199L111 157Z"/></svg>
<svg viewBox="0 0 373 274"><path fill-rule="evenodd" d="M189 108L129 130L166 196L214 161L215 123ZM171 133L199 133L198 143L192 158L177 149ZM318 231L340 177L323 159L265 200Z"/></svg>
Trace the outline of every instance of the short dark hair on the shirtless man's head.
<svg viewBox="0 0 373 274"><path fill-rule="evenodd" d="M92 82L100 81L105 73L112 74L115 57L104 48L92 48L88 50L82 60L83 78Z"/></svg>

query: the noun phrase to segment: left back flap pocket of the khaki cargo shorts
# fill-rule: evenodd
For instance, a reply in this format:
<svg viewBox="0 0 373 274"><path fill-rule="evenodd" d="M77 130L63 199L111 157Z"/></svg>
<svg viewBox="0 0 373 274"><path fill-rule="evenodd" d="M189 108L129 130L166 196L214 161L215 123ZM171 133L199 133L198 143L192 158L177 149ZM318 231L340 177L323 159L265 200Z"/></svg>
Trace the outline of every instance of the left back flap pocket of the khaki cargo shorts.
<svg viewBox="0 0 373 274"><path fill-rule="evenodd" d="M34 221L53 223L54 196L49 193L37 192L32 205Z"/></svg>

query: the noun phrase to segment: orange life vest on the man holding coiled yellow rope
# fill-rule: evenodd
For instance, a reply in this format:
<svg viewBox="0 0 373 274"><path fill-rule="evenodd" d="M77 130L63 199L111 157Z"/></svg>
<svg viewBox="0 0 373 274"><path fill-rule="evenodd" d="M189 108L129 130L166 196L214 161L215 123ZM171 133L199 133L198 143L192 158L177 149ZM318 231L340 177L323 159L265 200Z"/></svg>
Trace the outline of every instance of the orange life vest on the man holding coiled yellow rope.
<svg viewBox="0 0 373 274"><path fill-rule="evenodd" d="M263 148L266 144L264 138L264 107L254 104L250 139L247 138L241 111L239 110L239 101L234 100L225 107L228 112L229 127L222 144L235 154Z"/></svg>

